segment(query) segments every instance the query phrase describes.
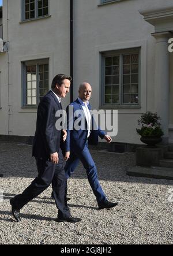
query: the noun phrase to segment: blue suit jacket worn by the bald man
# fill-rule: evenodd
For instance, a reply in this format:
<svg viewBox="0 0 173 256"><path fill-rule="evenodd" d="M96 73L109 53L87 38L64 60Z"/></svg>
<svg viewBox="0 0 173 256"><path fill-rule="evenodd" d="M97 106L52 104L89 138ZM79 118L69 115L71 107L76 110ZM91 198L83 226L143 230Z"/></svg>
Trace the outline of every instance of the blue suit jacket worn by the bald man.
<svg viewBox="0 0 173 256"><path fill-rule="evenodd" d="M69 106L73 106L73 113L77 110L82 110L84 112L81 103L78 101L74 101ZM69 123L73 123L76 121L77 117L69 117L69 106L67 107L67 139L65 142L65 150L66 152L72 151L72 152L80 152L84 149L86 140L88 137L88 129L80 129L77 131L76 129L69 128ZM91 105L88 105L88 109L91 110ZM74 115L73 115L74 116ZM73 120L69 120L69 118L73 118ZM81 118L85 118L84 116L81 116ZM85 120L86 123L86 120ZM87 123L86 123L87 127ZM96 130L93 129L94 127L94 120L92 116L92 129L91 129L91 135L89 136L88 143L92 145L97 145L99 142L99 137L101 139L104 139L104 136L106 135L106 132L101 131L100 128L97 128Z"/></svg>

